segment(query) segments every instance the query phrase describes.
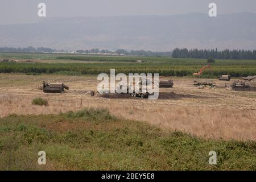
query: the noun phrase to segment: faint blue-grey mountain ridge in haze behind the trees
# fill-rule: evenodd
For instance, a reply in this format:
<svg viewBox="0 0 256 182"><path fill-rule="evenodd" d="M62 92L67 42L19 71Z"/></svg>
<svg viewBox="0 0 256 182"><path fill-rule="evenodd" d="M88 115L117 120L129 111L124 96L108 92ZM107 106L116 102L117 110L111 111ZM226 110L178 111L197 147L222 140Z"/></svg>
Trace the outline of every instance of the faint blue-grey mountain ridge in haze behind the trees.
<svg viewBox="0 0 256 182"><path fill-rule="evenodd" d="M0 26L0 47L256 49L256 14L49 18Z"/></svg>

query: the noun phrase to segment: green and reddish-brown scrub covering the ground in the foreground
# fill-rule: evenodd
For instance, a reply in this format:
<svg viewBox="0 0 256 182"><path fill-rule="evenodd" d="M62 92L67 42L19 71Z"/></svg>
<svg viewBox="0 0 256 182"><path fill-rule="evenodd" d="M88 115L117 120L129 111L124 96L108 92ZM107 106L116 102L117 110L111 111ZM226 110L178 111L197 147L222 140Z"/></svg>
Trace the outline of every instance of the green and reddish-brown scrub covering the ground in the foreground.
<svg viewBox="0 0 256 182"><path fill-rule="evenodd" d="M40 166L38 152L46 151ZM209 165L208 152L217 152ZM204 140L115 118L108 110L0 119L0 169L256 169L256 143Z"/></svg>

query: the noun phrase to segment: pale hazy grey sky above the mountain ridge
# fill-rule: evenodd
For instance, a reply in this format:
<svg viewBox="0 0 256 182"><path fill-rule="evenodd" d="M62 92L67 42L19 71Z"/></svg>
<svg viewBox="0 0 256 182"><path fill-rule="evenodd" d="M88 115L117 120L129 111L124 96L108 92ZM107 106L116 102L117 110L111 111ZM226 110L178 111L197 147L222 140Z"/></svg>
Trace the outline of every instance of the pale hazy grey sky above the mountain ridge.
<svg viewBox="0 0 256 182"><path fill-rule="evenodd" d="M0 24L37 22L38 4L46 3L47 18L72 16L131 16L208 13L256 13L255 0L0 0Z"/></svg>

